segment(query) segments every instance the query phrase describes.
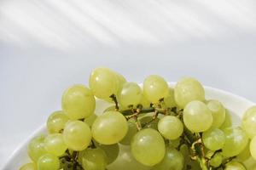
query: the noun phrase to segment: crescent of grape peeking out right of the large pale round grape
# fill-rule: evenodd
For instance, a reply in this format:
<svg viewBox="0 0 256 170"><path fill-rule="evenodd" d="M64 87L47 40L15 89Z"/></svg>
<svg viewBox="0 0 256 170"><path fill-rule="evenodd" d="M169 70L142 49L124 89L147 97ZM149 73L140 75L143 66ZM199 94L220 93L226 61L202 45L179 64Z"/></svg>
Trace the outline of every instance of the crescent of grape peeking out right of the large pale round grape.
<svg viewBox="0 0 256 170"><path fill-rule="evenodd" d="M225 120L225 109L224 106L217 100L207 101L207 107L212 111L212 127L220 127Z"/></svg>

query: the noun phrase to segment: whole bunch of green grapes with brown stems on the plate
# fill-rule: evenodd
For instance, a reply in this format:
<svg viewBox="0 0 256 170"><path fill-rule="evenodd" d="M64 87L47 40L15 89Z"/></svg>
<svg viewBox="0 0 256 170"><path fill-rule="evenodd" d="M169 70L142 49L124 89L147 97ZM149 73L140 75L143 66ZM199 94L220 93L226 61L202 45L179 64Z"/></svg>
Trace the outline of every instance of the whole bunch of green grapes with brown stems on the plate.
<svg viewBox="0 0 256 170"><path fill-rule="evenodd" d="M96 99L112 106L96 114ZM229 111L192 77L172 88L151 75L141 88L96 68L89 88L67 88L61 106L48 134L28 144L32 162L20 170L245 170L244 161L256 160L256 106L233 127Z"/></svg>

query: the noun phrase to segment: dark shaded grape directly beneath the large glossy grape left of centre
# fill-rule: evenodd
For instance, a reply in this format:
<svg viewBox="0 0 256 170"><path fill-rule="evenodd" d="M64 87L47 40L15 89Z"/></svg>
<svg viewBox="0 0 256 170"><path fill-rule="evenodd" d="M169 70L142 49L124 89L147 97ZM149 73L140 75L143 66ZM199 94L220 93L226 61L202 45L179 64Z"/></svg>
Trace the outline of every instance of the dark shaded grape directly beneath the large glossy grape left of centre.
<svg viewBox="0 0 256 170"><path fill-rule="evenodd" d="M105 151L108 164L112 163L119 156L119 144L97 144L96 146Z"/></svg>

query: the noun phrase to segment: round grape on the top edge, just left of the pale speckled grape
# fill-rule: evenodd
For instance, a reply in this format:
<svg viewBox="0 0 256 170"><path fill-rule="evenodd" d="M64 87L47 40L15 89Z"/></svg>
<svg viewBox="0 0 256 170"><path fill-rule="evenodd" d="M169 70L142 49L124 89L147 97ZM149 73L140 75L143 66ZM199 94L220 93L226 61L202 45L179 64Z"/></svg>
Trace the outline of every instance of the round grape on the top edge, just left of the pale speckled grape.
<svg viewBox="0 0 256 170"><path fill-rule="evenodd" d="M166 80L160 76L151 75L143 82L143 94L150 102L158 103L160 99L167 97L168 91Z"/></svg>

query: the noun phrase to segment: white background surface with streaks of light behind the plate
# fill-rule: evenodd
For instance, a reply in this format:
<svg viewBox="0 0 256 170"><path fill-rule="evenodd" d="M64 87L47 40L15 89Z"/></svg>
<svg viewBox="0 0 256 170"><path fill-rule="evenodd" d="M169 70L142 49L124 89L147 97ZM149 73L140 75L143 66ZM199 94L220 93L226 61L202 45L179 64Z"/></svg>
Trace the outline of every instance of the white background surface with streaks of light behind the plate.
<svg viewBox="0 0 256 170"><path fill-rule="evenodd" d="M254 0L3 0L0 167L99 65L134 82L192 76L256 101L255 44Z"/></svg>

